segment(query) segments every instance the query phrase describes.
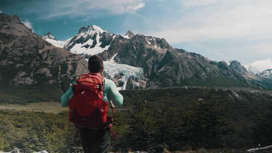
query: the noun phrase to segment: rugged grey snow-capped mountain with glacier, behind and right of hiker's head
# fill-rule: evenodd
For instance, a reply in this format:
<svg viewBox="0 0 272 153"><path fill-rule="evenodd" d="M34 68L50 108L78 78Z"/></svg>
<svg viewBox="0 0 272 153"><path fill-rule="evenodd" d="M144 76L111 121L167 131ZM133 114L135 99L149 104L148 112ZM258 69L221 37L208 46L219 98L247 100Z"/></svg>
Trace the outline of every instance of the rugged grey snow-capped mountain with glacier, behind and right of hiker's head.
<svg viewBox="0 0 272 153"><path fill-rule="evenodd" d="M173 48L164 38L134 35L131 31L121 36L91 25L80 28L78 34L66 42L64 48L72 53L85 58L94 54L101 56L106 77L119 89L203 84L267 88L261 83L263 79L249 73L238 61L211 61L200 54ZM225 81L217 81L218 78Z"/></svg>

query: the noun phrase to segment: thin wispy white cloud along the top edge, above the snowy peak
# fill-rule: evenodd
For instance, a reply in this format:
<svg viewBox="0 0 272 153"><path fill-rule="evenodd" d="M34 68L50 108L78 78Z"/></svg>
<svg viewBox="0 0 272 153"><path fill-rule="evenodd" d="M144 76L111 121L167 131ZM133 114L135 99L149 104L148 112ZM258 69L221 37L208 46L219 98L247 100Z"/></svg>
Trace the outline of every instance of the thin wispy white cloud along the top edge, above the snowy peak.
<svg viewBox="0 0 272 153"><path fill-rule="evenodd" d="M124 14L137 12L145 7L143 0L67 0L50 1L49 7L43 10L43 19L52 19L57 17L79 17L100 15ZM45 13L46 12L46 13Z"/></svg>

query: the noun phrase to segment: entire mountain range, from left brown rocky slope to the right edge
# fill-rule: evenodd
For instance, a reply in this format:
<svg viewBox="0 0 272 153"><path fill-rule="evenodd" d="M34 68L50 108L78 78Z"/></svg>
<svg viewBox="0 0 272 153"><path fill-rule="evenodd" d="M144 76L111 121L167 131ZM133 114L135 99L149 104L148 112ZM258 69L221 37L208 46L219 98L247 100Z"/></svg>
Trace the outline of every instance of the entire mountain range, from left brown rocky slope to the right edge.
<svg viewBox="0 0 272 153"><path fill-rule="evenodd" d="M131 31L121 36L92 25L82 27L71 39L59 41L50 33L43 37L32 33L16 16L0 14L0 42L0 84L5 87L2 92L20 98L31 97L29 93L35 92L40 95L50 92L44 101L59 98L61 89L88 72L85 58L92 54L104 59L104 75L119 89L177 86L272 89L268 77L249 73L238 61L212 61L173 48L164 38L134 35ZM41 100L37 94L36 97ZM9 98L6 96L5 100Z"/></svg>

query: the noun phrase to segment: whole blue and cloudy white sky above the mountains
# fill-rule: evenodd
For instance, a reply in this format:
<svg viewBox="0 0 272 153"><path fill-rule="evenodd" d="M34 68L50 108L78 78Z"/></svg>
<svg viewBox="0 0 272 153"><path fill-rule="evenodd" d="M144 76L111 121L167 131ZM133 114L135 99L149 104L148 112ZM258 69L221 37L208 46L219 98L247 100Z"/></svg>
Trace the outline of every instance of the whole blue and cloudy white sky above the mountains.
<svg viewBox="0 0 272 153"><path fill-rule="evenodd" d="M1 0L35 33L66 40L83 26L165 38L211 60L272 68L271 0Z"/></svg>

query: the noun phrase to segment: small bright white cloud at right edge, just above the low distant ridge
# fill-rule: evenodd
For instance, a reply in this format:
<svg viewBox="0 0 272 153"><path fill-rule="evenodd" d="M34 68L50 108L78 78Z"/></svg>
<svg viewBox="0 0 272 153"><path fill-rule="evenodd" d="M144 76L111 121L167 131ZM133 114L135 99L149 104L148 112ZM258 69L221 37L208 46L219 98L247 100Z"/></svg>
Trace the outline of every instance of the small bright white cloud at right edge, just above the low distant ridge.
<svg viewBox="0 0 272 153"><path fill-rule="evenodd" d="M245 67L251 70L253 73L260 73L265 69L272 68L272 58L267 58L264 60L257 60L249 65L245 65Z"/></svg>

